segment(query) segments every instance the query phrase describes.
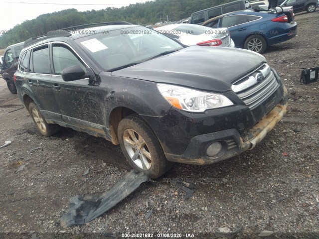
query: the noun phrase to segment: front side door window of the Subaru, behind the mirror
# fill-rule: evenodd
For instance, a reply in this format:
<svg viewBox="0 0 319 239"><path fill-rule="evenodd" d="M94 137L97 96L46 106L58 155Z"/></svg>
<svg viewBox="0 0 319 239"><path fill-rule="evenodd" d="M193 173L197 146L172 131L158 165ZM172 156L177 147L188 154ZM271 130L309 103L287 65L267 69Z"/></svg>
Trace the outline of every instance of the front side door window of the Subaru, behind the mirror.
<svg viewBox="0 0 319 239"><path fill-rule="evenodd" d="M66 45L53 44L52 48L54 74L61 75L63 69L70 66L80 66L84 71L86 68L78 56Z"/></svg>

